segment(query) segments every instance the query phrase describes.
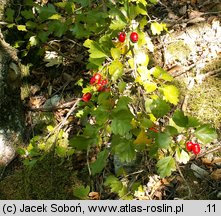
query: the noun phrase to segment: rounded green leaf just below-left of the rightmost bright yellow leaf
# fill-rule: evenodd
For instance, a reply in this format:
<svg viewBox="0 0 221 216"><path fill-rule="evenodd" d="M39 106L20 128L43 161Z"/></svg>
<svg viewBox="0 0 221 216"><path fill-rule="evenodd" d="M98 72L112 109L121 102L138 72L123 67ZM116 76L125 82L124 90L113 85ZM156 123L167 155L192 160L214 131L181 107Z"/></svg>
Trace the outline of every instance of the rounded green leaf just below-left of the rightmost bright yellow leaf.
<svg viewBox="0 0 221 216"><path fill-rule="evenodd" d="M150 104L150 110L156 118L161 118L170 111L170 105L159 98Z"/></svg>

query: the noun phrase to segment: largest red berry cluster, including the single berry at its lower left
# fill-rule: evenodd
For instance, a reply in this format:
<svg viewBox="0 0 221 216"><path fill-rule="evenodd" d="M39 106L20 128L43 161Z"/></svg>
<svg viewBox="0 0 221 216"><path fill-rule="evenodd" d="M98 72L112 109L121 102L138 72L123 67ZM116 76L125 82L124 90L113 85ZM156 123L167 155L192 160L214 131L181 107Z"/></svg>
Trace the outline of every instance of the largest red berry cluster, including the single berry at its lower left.
<svg viewBox="0 0 221 216"><path fill-rule="evenodd" d="M108 80L102 79L102 76L99 73L94 74L94 76L90 79L90 84L96 86L96 90L99 92L106 92L110 91L110 88L107 87ZM82 100L84 102L88 102L92 97L92 94L90 92L85 93L82 96Z"/></svg>

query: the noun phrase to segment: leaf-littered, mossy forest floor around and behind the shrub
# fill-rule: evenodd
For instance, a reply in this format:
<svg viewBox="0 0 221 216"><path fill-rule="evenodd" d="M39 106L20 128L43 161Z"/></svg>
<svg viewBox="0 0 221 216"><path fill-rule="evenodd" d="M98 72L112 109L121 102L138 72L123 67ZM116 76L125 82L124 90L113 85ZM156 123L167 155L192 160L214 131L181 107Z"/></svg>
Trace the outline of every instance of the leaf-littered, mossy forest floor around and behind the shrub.
<svg viewBox="0 0 221 216"><path fill-rule="evenodd" d="M194 26L198 22L209 22L211 17L220 20L221 4L219 1L218 3L216 1L161 2L160 7L154 8L154 13L158 13L161 19L168 24L170 30L173 29L175 32L185 31L189 25ZM182 22L179 23L180 21ZM29 71L29 77L23 80L22 100L26 107L27 143L33 134L41 133L47 125L58 124L64 119L69 111L68 103L72 103L73 98L81 97L81 89L75 85L79 79L89 82L89 76L84 71L84 61L87 57L84 56L83 48L68 40L61 43L60 52L64 55L71 53L73 57L78 56L78 62L70 60L59 67L46 67L46 63L42 61ZM220 44L215 45L220 48ZM201 82L195 82L188 90L188 96L186 95L187 86L183 87L180 78L183 78L184 83L186 80L194 79L196 81L199 74L196 74L192 70L193 68L184 69L182 76L177 78L177 85L181 85L181 89L183 88L183 102L188 99L184 107L185 111L198 116L206 123L212 123L219 133L221 131L220 54L221 49L217 56L209 59L212 68L207 68L206 72L200 70L202 74L215 71L215 76L211 73ZM161 55L165 55L165 53L161 53ZM201 60L202 57L198 54L197 59ZM189 66L186 62L188 60L182 64L180 62L158 62L158 64L162 64L171 74L176 75L177 72L181 72L179 67L187 68ZM214 62L216 62L215 68ZM178 63L178 70L174 69ZM208 67L208 65L206 66ZM49 106L45 106L46 103L49 103ZM67 106L51 110L50 103ZM80 126L70 116L67 127L70 127L74 133ZM169 178L162 179L156 175L154 161L148 160L139 165L135 164L136 169L133 168L129 172L125 181L134 179L145 185L143 188L145 193L134 194L134 199L221 199L220 145L219 140L207 145L199 156L193 156L187 164L179 165L178 171ZM95 153L96 149L91 152L91 158ZM106 187L101 186L103 185L103 175L114 172L113 159L110 159L109 165L102 175L91 178L87 172L87 153L77 153L72 157L64 159L49 153L42 157L32 169L25 167L21 158L15 157L0 172L0 199L76 199L76 193L74 194L73 191L79 185L90 185L92 188L87 196L88 199L118 199Z"/></svg>

